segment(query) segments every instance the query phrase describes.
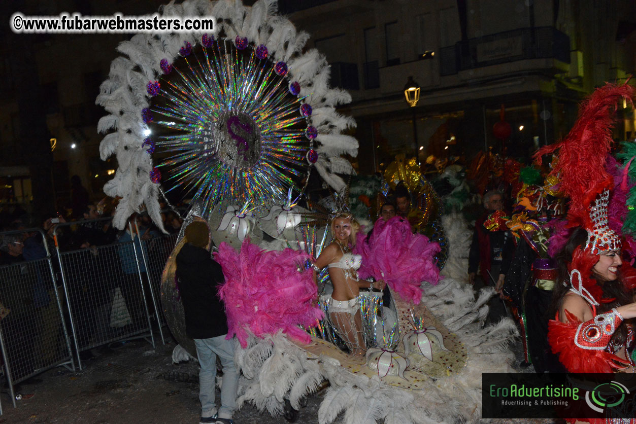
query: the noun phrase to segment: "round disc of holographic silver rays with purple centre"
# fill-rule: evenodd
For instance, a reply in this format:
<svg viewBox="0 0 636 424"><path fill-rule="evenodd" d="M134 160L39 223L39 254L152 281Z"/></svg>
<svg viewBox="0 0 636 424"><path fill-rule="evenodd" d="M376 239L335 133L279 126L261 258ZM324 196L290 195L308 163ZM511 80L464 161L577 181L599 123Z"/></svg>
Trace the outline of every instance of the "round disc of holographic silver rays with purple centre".
<svg viewBox="0 0 636 424"><path fill-rule="evenodd" d="M160 165L169 168L170 189L184 186L208 213L248 200L267 210L290 187L299 191L307 172L302 99L256 50L219 40L202 46L174 67L176 76L162 78L165 104L151 107L163 116L155 123L170 130L156 143L170 153Z"/></svg>

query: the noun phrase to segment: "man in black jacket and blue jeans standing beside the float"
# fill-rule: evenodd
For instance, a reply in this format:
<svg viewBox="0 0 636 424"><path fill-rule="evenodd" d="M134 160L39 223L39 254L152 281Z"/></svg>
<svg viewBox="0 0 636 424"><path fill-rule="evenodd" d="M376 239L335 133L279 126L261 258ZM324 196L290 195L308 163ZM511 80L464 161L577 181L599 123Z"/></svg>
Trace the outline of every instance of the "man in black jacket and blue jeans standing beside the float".
<svg viewBox="0 0 636 424"><path fill-rule="evenodd" d="M239 373L234 366L234 339L226 340L228 322L217 286L223 271L207 251L210 241L205 222L192 222L185 231L186 244L177 254L177 278L183 301L186 334L197 346L199 371L200 424L233 424ZM221 407L216 409L216 357L223 366Z"/></svg>

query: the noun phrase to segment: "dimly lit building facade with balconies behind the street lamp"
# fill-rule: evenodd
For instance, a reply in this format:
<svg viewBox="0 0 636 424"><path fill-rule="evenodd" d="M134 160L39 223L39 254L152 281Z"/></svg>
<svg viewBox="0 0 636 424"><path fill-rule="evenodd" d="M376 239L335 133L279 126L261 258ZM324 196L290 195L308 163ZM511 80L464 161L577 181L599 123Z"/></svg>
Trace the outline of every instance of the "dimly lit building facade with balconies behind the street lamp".
<svg viewBox="0 0 636 424"><path fill-rule="evenodd" d="M527 158L568 132L584 95L604 81L625 82L634 69L636 4L628 0L282 6L326 55L332 85L352 94L343 109L357 121L363 174L396 153L423 161L505 147ZM420 87L415 107L404 98L408 81ZM616 139L633 138L632 109L620 116ZM500 120L511 127L503 140L493 130Z"/></svg>

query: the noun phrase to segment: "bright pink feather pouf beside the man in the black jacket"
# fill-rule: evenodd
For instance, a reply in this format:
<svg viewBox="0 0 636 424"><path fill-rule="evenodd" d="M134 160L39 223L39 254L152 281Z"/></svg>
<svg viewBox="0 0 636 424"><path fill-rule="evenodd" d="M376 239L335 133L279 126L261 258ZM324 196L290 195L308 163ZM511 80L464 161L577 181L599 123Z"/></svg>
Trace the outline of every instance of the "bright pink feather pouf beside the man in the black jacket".
<svg viewBox="0 0 636 424"><path fill-rule="evenodd" d="M298 325L315 327L322 310L315 302L312 269L305 269L307 254L293 249L268 252L245 239L240 252L221 243L214 259L225 275L219 295L228 317L228 338L236 334L245 348L247 329L259 338L282 330L310 342L309 334Z"/></svg>

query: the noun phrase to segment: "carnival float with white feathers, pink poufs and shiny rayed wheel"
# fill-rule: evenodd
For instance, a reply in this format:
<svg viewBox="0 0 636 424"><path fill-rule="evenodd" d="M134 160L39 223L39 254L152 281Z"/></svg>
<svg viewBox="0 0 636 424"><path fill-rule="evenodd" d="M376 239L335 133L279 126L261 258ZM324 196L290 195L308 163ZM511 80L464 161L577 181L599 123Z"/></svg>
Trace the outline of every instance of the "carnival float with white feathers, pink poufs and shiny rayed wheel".
<svg viewBox="0 0 636 424"><path fill-rule="evenodd" d="M509 319L483 325L492 289L475 296L464 282L440 279L446 256L465 252L448 244L431 184L406 158L384 179L353 175L342 155L357 154L348 135L356 123L336 110L351 97L329 87L326 58L277 15L275 1L186 0L159 13L212 16L216 25L138 34L118 46L97 99L107 111L100 155L118 162L104 191L121 198L118 228L142 205L161 226L163 188L190 193L183 228L207 222L225 274L230 335L242 346L239 404L277 415L327 386L321 423L342 413L352 424L480 421L481 373L512 371L516 328ZM310 194L316 181L320 196ZM362 258L359 278L382 279L391 292L388 305L382 292L361 292L361 360L328 319L327 271L314 277L311 264L331 241L330 217L366 214L368 231L371 203L398 183L411 196L408 221L378 221L352 246ZM391 247L373 243L380 238ZM162 307L194 355L174 278L183 243L182 233L163 272Z"/></svg>

